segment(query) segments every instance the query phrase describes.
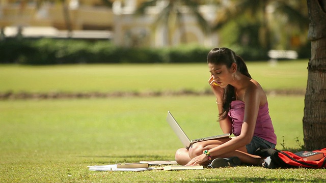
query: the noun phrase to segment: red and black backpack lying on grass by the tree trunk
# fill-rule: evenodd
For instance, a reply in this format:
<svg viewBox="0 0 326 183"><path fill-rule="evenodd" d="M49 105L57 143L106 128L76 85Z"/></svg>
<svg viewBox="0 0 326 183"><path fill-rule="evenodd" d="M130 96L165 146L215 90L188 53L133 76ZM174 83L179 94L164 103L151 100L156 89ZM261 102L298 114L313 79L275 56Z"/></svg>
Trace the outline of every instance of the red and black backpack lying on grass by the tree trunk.
<svg viewBox="0 0 326 183"><path fill-rule="evenodd" d="M295 155L290 151L277 150L277 149L262 149L257 152L257 155L261 157L270 156L271 160L275 164L276 168L326 168L326 148L320 150L313 150L313 152L320 152L324 154L324 157L316 161L308 161Z"/></svg>

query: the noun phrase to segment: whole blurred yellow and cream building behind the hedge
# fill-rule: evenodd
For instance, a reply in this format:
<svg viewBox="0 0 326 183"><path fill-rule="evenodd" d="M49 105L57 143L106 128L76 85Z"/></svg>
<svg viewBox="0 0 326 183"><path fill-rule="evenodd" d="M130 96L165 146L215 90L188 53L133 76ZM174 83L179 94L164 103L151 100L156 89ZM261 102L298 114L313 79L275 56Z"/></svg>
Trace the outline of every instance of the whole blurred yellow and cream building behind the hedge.
<svg viewBox="0 0 326 183"><path fill-rule="evenodd" d="M186 35L187 43L216 45L217 34L206 35L196 18L183 12L183 30L170 30L166 25L153 27L157 15L167 5L159 1L147 9L145 15L134 11L145 0L0 0L2 34L13 37L110 39L120 46L161 47L178 45ZM42 3L40 3L42 2ZM215 18L213 6L202 5L199 11L208 22Z"/></svg>

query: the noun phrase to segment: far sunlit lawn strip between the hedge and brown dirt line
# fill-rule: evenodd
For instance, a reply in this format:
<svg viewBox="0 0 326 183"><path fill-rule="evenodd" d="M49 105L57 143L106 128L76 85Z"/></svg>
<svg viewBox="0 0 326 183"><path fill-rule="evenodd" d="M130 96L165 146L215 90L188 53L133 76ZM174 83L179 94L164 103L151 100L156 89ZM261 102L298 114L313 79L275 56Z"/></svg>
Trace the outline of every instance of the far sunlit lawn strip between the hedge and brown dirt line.
<svg viewBox="0 0 326 183"><path fill-rule="evenodd" d="M249 62L264 89L305 89L308 60ZM0 92L116 92L209 89L203 64L154 65L0 65Z"/></svg>

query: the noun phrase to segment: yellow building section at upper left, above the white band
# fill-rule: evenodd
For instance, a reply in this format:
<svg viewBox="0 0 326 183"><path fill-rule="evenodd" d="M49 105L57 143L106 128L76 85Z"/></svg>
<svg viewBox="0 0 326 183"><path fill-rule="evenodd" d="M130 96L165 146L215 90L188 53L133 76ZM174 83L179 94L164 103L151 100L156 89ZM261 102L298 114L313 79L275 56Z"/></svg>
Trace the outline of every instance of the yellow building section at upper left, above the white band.
<svg viewBox="0 0 326 183"><path fill-rule="evenodd" d="M0 0L0 26L52 26L67 29L64 7L74 30L110 30L114 14L101 0Z"/></svg>

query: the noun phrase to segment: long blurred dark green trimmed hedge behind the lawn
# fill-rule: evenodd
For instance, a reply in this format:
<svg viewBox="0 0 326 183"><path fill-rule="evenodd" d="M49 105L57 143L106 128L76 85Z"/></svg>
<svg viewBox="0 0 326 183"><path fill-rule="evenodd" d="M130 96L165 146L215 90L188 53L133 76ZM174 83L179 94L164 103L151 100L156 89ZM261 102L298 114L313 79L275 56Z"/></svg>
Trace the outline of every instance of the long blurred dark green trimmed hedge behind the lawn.
<svg viewBox="0 0 326 183"><path fill-rule="evenodd" d="M199 45L181 45L172 48L123 48L109 41L6 39L0 41L0 63L25 65L206 63L210 49ZM245 60L257 60L262 58L262 55L265 57L267 55L259 50L234 51Z"/></svg>

